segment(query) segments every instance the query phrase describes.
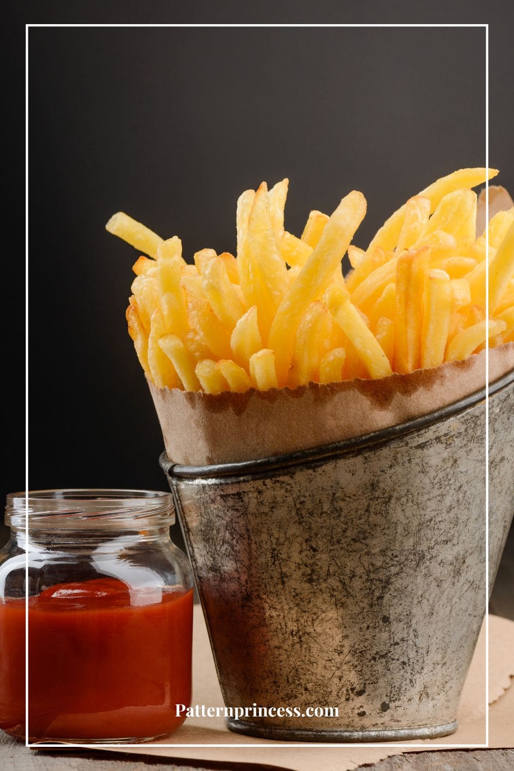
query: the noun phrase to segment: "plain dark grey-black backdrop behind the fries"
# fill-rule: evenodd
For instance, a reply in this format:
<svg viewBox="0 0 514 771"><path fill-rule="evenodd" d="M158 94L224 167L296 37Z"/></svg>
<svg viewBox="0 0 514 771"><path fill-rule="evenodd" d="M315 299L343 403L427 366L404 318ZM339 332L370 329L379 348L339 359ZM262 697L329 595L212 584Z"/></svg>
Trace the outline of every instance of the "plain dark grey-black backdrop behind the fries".
<svg viewBox="0 0 514 771"><path fill-rule="evenodd" d="M31 22L165 20L28 5ZM347 20L325 5L323 21ZM495 29L490 163L512 190L512 62ZM484 163L484 29L30 29L29 486L166 488L124 319L137 253L104 230L114 211L178 234L189 258L233 251L238 194L288 176L288 230L356 187L365 246L427 183ZM13 447L9 490L25 486Z"/></svg>

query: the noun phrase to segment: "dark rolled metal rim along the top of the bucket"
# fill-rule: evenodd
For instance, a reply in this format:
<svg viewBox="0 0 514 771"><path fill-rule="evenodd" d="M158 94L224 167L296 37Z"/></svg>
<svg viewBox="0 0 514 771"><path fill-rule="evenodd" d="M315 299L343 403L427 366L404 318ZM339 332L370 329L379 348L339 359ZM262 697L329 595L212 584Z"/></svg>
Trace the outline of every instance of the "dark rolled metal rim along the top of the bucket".
<svg viewBox="0 0 514 771"><path fill-rule="evenodd" d="M502 375L501 378L489 383L489 396L501 391L507 385L514 382L514 369ZM363 436L354 436L351 439L342 439L340 442L324 444L317 447L308 447L298 450L295 453L285 453L284 455L271 456L268 458L259 458L257 460L242 460L239 463L216 463L212 466L181 466L173 463L166 456L166 452L160 456L160 466L168 476L183 476L195 479L213 479L220 476L247 476L260 472L278 470L288 466L297 466L301 463L316 462L317 460L327 460L336 458L356 449L362 449L370 445L381 444L396 439L398 436L412 433L418 429L431 426L465 409L475 406L485 399L485 387L475 391L463 399L447 404L444 407L435 409L418 418L406 420L405 423L398 423L396 426L380 429Z"/></svg>

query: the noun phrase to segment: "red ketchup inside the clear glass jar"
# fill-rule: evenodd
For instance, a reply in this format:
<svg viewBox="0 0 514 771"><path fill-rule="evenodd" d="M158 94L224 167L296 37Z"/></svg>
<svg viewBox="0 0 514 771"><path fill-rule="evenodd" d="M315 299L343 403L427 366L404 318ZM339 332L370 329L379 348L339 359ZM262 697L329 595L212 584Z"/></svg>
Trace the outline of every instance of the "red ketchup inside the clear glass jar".
<svg viewBox="0 0 514 771"><path fill-rule="evenodd" d="M190 704L193 590L116 578L29 598L29 737L144 740ZM0 603L0 728L25 735L25 599Z"/></svg>

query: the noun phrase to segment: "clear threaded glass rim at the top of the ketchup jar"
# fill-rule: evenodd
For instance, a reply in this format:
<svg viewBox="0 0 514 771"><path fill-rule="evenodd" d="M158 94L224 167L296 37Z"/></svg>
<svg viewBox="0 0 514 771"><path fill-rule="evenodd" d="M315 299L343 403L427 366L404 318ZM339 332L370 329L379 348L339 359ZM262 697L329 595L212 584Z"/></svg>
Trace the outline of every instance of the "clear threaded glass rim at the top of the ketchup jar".
<svg viewBox="0 0 514 771"><path fill-rule="evenodd" d="M103 523L139 523L151 519L154 524L173 524L173 496L162 490L123 490L121 488L55 488L9 493L5 524L11 527L55 527L82 530L101 527Z"/></svg>

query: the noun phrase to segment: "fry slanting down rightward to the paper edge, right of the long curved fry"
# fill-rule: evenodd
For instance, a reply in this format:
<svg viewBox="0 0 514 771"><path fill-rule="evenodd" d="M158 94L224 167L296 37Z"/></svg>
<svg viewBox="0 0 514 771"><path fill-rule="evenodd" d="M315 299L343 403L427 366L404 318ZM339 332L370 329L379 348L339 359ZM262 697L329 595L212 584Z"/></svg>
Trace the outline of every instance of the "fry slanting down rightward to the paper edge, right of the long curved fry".
<svg viewBox="0 0 514 771"><path fill-rule="evenodd" d="M391 375L388 357L381 349L375 335L366 326L358 308L351 304L349 296L345 295L339 287L332 287L327 294L328 310L354 345L371 377L382 378L385 375Z"/></svg>

